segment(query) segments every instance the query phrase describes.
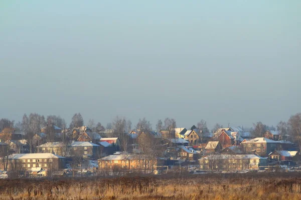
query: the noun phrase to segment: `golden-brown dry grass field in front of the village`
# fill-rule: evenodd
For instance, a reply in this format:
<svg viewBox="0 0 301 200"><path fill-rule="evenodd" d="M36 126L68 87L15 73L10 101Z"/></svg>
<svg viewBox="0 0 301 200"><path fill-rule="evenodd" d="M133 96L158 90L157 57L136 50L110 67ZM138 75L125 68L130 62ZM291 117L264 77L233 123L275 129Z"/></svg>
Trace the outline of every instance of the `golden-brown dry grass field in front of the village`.
<svg viewBox="0 0 301 200"><path fill-rule="evenodd" d="M2 179L0 199L301 199L300 173Z"/></svg>

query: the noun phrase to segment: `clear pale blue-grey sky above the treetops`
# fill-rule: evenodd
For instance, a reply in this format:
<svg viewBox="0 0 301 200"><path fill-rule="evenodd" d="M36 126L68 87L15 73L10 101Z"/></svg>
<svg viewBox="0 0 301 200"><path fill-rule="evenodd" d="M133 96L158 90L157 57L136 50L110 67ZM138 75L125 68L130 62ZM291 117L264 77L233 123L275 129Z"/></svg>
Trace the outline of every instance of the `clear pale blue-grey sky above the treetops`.
<svg viewBox="0 0 301 200"><path fill-rule="evenodd" d="M301 111L300 0L2 0L0 118L276 125Z"/></svg>

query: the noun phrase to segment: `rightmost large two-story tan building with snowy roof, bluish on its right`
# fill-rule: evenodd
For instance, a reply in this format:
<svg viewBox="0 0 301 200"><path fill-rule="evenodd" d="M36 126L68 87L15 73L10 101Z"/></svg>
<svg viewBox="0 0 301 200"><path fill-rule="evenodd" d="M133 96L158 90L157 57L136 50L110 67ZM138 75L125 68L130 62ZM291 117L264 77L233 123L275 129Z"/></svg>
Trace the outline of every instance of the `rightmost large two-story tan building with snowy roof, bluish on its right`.
<svg viewBox="0 0 301 200"><path fill-rule="evenodd" d="M281 143L264 137L256 137L241 142L243 153L256 154L259 156L268 156L274 150L279 150Z"/></svg>

